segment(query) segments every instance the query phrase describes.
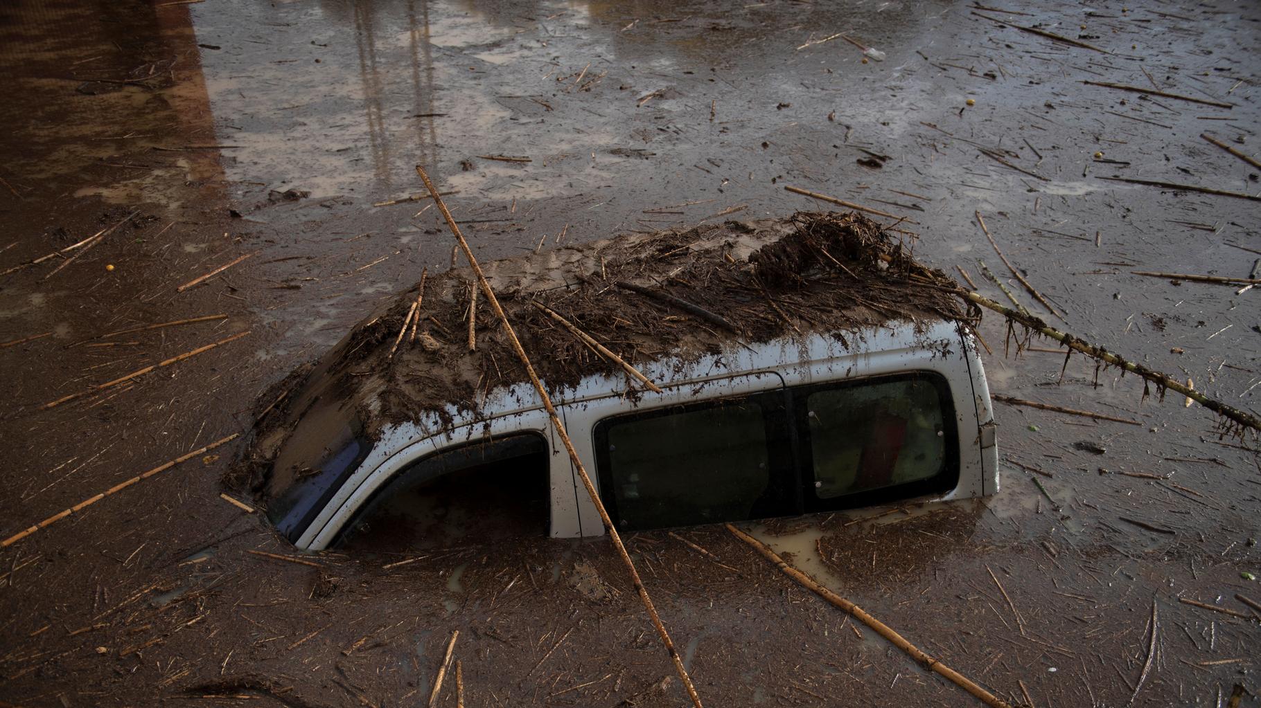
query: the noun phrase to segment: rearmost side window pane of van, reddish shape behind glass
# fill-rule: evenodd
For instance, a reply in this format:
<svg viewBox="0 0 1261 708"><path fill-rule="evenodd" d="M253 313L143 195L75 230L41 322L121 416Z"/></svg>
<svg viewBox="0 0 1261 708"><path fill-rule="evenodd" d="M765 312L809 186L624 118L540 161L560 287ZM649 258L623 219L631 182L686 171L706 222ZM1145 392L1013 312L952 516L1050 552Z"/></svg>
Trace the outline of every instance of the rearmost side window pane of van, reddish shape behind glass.
<svg viewBox="0 0 1261 708"><path fill-rule="evenodd" d="M803 393L808 508L857 506L957 482L955 411L941 377L849 382Z"/></svg>

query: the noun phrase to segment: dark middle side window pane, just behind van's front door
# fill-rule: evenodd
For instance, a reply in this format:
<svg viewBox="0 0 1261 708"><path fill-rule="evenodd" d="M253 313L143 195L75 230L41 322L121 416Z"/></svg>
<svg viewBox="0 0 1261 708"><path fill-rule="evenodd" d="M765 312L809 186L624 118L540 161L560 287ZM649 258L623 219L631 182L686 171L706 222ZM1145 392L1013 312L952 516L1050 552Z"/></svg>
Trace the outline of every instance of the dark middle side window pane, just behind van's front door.
<svg viewBox="0 0 1261 708"><path fill-rule="evenodd" d="M619 528L794 513L779 391L619 416L601 421L595 440L601 496Z"/></svg>

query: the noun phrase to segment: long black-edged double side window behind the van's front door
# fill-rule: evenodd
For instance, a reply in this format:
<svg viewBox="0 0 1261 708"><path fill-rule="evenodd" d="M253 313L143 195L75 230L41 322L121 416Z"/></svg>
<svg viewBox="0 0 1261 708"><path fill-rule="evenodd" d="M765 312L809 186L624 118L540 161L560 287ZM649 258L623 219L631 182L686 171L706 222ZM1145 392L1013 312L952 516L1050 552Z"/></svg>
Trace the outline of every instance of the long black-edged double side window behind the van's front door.
<svg viewBox="0 0 1261 708"><path fill-rule="evenodd" d="M950 384L915 373L774 389L595 426L600 496L623 530L744 522L948 491Z"/></svg>

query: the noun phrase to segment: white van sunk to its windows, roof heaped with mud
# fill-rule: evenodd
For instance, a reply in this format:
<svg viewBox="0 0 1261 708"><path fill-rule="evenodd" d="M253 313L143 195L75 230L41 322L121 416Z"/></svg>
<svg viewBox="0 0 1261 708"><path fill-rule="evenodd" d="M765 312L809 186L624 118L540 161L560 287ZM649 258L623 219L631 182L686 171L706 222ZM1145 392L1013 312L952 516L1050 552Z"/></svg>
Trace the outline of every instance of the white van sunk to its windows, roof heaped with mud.
<svg viewBox="0 0 1261 708"><path fill-rule="evenodd" d="M997 491L990 393L966 317L943 316L939 299L910 302L937 297L913 288L944 276L900 256L863 217L807 217L831 222L810 226L798 215L638 234L487 266L619 530ZM820 223L868 231L855 252L849 236ZM789 238L798 239L791 272L782 258L772 271L767 247ZM802 262L801 242L826 258ZM685 249L682 270L676 248ZM614 263L620 275L610 275ZM494 321L478 320L460 273L378 309L313 372L291 377L282 411L269 412L275 421L264 416L252 452L256 488L296 547L339 547L373 533L401 547L458 544L470 529L514 517L522 523L509 524L511 533L604 533L537 393L504 373L511 354L497 348ZM658 295L618 287L627 273ZM899 287L912 295L900 297ZM540 299L556 311L569 304L576 326L620 346L660 392L579 339L566 344L570 331L530 319ZM836 330L828 320L851 300ZM890 305L898 302L905 307ZM474 336L485 330L480 353L465 341L462 310L465 323L472 312ZM435 315L426 320L426 311ZM643 350L657 339L660 353ZM550 378L549 368L562 374ZM508 384L478 383L459 396L451 380L472 382L478 370L479 383L498 372ZM425 398L435 387L440 396ZM424 403L409 406L407 392ZM460 496L463 506L453 501Z"/></svg>

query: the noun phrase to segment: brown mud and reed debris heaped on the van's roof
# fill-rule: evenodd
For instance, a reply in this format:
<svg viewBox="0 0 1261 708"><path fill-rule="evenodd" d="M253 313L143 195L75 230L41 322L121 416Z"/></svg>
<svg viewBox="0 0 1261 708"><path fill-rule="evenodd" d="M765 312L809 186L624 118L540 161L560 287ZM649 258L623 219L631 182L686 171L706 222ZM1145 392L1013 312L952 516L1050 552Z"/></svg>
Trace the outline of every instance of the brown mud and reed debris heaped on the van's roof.
<svg viewBox="0 0 1261 708"><path fill-rule="evenodd" d="M900 237L856 213L628 234L483 270L552 391L593 374L625 374L537 305L633 365L663 358L689 363L724 346L815 333L851 346L851 333L893 320L966 319L951 294L958 287L953 280L917 263ZM405 336L393 357L391 345L420 283L378 306L310 373L295 372L282 383L298 394L260 422L269 430L256 431L259 438L270 435L279 443L284 431L274 428L291 428L315 398L358 407L362 432L372 437L385 423L445 414L449 406L477 412L497 388L528 380L484 297L475 312L477 348L469 350L474 283L467 267L430 275L417 340ZM627 379L628 391L637 387ZM279 393L265 394L260 408Z"/></svg>

